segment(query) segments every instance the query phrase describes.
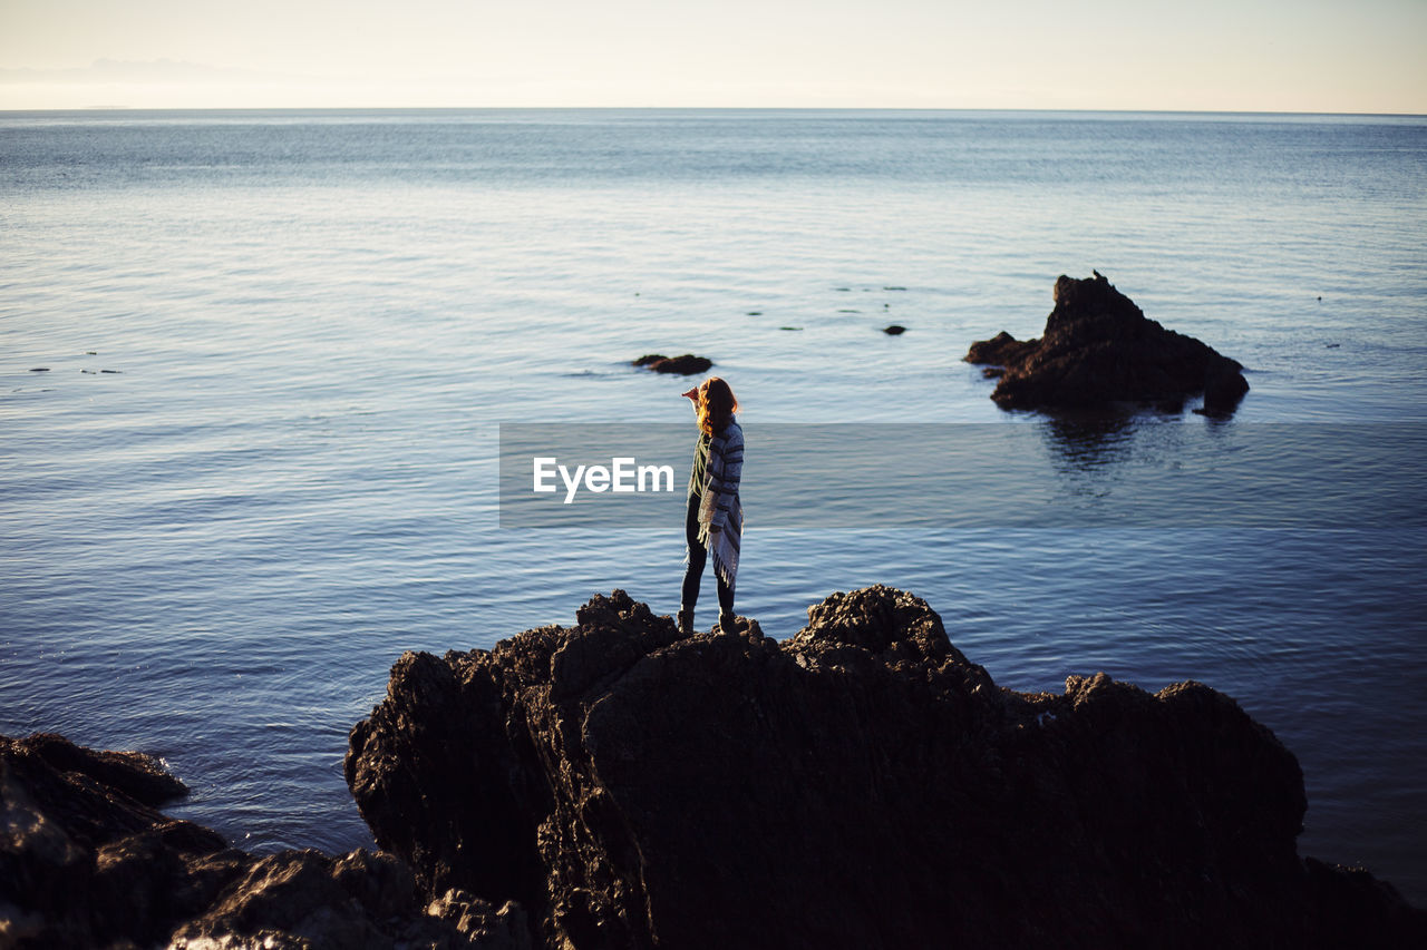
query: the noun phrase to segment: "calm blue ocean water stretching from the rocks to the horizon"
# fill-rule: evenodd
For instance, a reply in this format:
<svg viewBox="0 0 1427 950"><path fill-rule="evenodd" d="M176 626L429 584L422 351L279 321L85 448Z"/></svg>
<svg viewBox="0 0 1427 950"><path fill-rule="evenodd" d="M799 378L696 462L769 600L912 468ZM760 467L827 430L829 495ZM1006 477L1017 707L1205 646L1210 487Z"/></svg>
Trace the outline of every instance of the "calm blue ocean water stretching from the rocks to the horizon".
<svg viewBox="0 0 1427 950"><path fill-rule="evenodd" d="M368 843L341 757L401 650L616 586L678 608L681 523L497 516L501 422L688 422L644 352L715 359L751 439L1033 427L1006 491L1042 501L1212 466L1212 425L1364 427L1374 465L1326 484L1401 519L1247 523L1173 484L1160 526L751 505L739 611L788 636L883 582L1005 686L1206 682L1299 756L1300 852L1427 903L1424 459L1394 435L1427 422L1424 234L1424 118L0 114L0 730L156 752L247 847ZM1249 368L1233 421L996 409L968 345L1092 268ZM1249 458L1271 511L1289 474Z"/></svg>

